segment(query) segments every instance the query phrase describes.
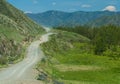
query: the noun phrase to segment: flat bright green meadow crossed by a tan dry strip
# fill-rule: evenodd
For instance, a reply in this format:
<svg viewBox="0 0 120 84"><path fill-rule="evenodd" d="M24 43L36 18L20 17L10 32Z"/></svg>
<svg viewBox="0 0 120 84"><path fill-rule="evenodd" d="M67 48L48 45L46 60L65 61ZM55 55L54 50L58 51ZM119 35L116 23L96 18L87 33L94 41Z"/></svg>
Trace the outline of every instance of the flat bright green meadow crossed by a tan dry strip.
<svg viewBox="0 0 120 84"><path fill-rule="evenodd" d="M59 59L60 64L64 65L63 67L60 66L59 68L57 68L58 71L56 71L56 73L59 73L56 75L60 78L64 80L95 82L98 84L120 83L119 61L109 60L109 58L107 57L100 57L89 54L69 54L70 55L66 57L65 55L64 57L57 56L57 59ZM84 67L81 65L84 65ZM69 66L72 67L66 70L66 68ZM79 70L75 69L76 66L79 66L79 68L77 68ZM91 67L93 68L91 69ZM100 69L95 69L94 67L98 67Z"/></svg>

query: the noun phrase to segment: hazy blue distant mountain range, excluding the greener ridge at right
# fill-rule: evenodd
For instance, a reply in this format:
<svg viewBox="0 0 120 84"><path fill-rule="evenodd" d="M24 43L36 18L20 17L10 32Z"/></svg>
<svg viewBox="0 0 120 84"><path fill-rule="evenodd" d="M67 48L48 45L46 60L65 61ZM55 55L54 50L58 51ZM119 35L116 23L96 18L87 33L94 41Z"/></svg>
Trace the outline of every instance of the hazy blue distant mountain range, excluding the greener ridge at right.
<svg viewBox="0 0 120 84"><path fill-rule="evenodd" d="M104 16L115 16L120 14L120 12L109 12L109 11L95 11L95 12L62 12L62 11L47 11L43 13L28 13L31 19L36 21L37 23L45 26L77 26L77 25L85 25L89 22L100 19ZM104 22L104 21L103 21Z"/></svg>

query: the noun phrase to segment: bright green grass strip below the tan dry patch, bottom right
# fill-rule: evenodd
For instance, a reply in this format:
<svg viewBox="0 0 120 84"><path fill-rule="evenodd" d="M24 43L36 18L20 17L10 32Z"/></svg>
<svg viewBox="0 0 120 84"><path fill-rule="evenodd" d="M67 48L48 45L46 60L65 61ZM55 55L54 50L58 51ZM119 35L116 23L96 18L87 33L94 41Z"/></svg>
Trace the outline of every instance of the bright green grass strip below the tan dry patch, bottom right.
<svg viewBox="0 0 120 84"><path fill-rule="evenodd" d="M64 80L76 80L85 82L94 82L99 84L119 84L118 73L111 70L104 71L67 71L61 72L60 76Z"/></svg>

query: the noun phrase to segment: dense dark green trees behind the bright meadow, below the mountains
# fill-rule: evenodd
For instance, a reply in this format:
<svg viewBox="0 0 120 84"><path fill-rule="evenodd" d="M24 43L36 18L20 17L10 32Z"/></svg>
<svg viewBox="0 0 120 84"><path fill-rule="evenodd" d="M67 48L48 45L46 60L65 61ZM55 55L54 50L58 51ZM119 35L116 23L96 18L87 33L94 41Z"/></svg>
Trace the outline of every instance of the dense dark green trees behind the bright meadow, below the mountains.
<svg viewBox="0 0 120 84"><path fill-rule="evenodd" d="M114 25L107 25L101 27L87 27L87 26L77 26L77 27L55 27L55 29L75 32L83 35L91 40L91 44L94 46L94 53L97 55L107 55L112 52L117 54L113 56L114 58L120 57L120 27ZM114 52L114 54L113 54Z"/></svg>

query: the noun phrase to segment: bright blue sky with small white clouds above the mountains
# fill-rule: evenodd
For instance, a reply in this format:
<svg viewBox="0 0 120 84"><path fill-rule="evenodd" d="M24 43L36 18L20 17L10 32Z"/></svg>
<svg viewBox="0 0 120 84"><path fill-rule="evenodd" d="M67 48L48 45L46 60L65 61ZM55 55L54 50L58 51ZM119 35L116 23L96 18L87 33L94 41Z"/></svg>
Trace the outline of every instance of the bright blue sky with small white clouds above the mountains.
<svg viewBox="0 0 120 84"><path fill-rule="evenodd" d="M49 10L120 11L120 0L7 0L25 13L41 13Z"/></svg>

